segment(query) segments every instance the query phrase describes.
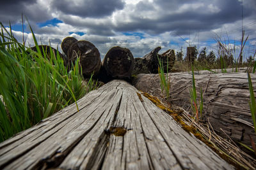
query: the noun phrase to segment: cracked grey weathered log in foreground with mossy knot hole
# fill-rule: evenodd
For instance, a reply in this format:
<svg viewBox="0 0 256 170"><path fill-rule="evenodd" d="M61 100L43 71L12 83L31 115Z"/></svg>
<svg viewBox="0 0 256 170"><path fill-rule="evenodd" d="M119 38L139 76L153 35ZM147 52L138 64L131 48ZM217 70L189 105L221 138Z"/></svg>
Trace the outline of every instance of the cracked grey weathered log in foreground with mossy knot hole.
<svg viewBox="0 0 256 170"><path fill-rule="evenodd" d="M122 80L0 143L0 169L233 169Z"/></svg>

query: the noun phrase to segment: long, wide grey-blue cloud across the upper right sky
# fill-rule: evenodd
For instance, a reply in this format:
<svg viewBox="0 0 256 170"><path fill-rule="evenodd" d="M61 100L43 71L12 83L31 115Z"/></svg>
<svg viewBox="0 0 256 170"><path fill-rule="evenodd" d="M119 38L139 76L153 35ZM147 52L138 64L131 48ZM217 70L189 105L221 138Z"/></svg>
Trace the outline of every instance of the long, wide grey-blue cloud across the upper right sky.
<svg viewBox="0 0 256 170"><path fill-rule="evenodd" d="M195 9L193 9L193 5ZM184 9L182 6L188 9ZM150 34L173 31L173 34L188 35L197 31L211 31L221 27L223 24L233 23L242 19L242 3L234 0L157 0L152 4L148 4L147 1L141 1L136 5L136 11L140 14L141 9L151 10L156 18L141 18L140 15L131 14L132 23L125 23L120 20L115 30L140 30ZM156 9L161 9L161 11ZM166 11L166 13L163 11ZM255 9L244 6L244 18L250 17L253 13L255 14Z"/></svg>

